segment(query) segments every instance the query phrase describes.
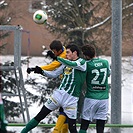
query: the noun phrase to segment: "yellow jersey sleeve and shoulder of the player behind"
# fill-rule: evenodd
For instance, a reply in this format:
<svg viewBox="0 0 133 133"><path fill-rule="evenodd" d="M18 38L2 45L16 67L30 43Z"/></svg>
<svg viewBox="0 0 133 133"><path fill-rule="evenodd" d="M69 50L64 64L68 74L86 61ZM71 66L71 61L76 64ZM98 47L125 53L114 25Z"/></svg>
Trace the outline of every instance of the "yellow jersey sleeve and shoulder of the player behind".
<svg viewBox="0 0 133 133"><path fill-rule="evenodd" d="M66 58L66 48L65 47L64 47L64 51L59 55L59 57ZM51 62L48 65L41 66L41 68L43 70L52 71L52 70L58 68L60 65L61 65L60 62L54 60L53 62Z"/></svg>

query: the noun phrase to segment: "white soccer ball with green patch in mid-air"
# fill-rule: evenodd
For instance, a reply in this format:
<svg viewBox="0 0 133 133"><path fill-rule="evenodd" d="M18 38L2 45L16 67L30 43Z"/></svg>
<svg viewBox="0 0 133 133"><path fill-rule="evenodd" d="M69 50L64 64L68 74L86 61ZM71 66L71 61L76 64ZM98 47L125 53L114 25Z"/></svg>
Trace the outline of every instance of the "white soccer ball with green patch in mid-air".
<svg viewBox="0 0 133 133"><path fill-rule="evenodd" d="M47 13L43 10L37 10L33 14L33 20L37 24L44 24L46 23L47 19L48 19Z"/></svg>

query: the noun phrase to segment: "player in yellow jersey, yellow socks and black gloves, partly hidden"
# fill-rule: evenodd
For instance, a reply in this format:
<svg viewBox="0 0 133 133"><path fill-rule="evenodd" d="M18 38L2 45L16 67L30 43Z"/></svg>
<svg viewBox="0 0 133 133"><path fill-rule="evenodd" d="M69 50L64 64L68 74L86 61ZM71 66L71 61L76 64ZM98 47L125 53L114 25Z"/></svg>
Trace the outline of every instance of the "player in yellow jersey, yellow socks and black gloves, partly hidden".
<svg viewBox="0 0 133 133"><path fill-rule="evenodd" d="M62 58L66 58L66 48L62 45L62 43L59 40L54 40L50 44L50 51L47 52L47 56L52 56L53 54ZM48 65L41 66L42 70L47 70L47 71L52 71L56 68L58 68L61 65L60 62L54 60ZM35 68L28 68L27 73L30 74L31 71L34 71ZM37 70L36 67L36 72L40 71L40 69ZM52 133L68 133L68 123L66 122L66 115L63 112L63 109L60 108L59 110L60 115L58 117L58 120L56 122L56 126L53 130Z"/></svg>

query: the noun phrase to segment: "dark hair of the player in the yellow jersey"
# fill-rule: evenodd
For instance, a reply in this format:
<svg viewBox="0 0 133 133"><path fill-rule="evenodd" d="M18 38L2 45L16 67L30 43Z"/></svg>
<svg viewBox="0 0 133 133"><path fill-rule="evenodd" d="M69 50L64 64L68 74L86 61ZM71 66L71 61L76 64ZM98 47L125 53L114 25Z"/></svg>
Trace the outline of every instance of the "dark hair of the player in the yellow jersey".
<svg viewBox="0 0 133 133"><path fill-rule="evenodd" d="M49 47L51 50L55 49L57 52L63 49L63 45L59 40L52 41Z"/></svg>

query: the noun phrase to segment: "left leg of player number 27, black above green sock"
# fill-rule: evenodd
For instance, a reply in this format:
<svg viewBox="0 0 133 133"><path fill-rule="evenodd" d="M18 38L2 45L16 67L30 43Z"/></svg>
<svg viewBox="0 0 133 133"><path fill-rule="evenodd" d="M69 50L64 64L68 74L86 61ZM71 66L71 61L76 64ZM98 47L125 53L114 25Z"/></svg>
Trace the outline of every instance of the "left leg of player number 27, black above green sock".
<svg viewBox="0 0 133 133"><path fill-rule="evenodd" d="M88 129L89 124L90 124L90 121L81 119L81 126L80 126L79 133L86 133L86 130Z"/></svg>

